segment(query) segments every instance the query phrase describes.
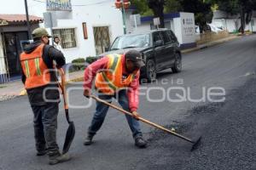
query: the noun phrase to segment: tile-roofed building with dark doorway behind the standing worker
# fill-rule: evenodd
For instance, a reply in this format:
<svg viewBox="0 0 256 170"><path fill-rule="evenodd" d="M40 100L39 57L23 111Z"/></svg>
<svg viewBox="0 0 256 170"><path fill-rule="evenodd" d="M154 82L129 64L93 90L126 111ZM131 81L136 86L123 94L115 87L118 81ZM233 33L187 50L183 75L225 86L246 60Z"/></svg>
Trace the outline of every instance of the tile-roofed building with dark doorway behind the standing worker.
<svg viewBox="0 0 256 170"><path fill-rule="evenodd" d="M42 18L30 16L32 29ZM25 14L0 14L0 83L20 78L21 42L28 40Z"/></svg>

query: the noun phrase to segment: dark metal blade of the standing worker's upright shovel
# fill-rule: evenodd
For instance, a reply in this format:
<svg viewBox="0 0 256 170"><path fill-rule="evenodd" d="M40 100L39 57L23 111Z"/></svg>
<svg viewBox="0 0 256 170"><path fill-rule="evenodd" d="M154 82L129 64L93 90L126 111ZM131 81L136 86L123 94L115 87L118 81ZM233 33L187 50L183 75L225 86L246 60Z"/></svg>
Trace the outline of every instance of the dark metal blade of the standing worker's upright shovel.
<svg viewBox="0 0 256 170"><path fill-rule="evenodd" d="M62 150L62 154L66 154L67 151L69 150L72 142L73 142L73 138L75 135L75 127L73 122L69 122L69 126L67 128L67 133L66 133L66 138L65 138L65 142L63 145L63 150Z"/></svg>

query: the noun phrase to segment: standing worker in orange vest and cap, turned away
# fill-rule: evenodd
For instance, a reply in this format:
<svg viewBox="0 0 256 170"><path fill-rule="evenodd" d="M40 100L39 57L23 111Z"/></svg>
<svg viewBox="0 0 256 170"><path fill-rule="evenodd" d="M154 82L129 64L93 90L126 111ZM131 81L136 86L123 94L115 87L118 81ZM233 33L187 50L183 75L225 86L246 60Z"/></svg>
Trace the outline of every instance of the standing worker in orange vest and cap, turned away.
<svg viewBox="0 0 256 170"><path fill-rule="evenodd" d="M60 68L66 64L63 54L49 46L49 34L44 28L32 31L33 41L20 54L22 82L34 114L34 133L37 156L48 154L49 164L68 161L68 154L61 155L56 143L57 116L60 94L53 61Z"/></svg>

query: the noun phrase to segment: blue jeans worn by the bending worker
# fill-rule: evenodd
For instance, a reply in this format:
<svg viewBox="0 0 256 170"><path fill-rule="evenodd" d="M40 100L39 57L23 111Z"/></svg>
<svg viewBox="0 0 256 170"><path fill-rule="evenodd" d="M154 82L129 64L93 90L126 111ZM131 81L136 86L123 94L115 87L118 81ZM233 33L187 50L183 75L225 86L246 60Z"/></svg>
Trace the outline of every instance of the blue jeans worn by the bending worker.
<svg viewBox="0 0 256 170"><path fill-rule="evenodd" d="M119 105L121 105L125 111L130 111L126 90L120 90L116 95L107 95L107 94L100 93L98 94L98 97L100 99L104 99L108 101L108 103L111 103L112 98L114 97L118 99ZM107 115L107 112L108 112L108 108L109 108L108 105L105 105L105 104L102 104L101 102L96 101L96 112L92 118L90 127L88 129L89 135L92 135L92 136L95 135L96 132L102 127L102 123L104 122L105 116ZM131 133L133 138L142 136L139 122L132 116L125 115L125 117L129 124L129 127L131 128Z"/></svg>

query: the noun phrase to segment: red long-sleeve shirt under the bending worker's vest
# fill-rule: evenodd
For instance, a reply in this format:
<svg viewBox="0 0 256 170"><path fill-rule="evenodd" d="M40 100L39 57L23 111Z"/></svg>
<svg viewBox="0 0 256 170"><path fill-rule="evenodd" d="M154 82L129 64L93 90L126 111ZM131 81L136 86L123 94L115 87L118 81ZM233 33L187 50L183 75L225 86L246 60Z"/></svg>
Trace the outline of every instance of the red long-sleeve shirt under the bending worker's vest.
<svg viewBox="0 0 256 170"><path fill-rule="evenodd" d="M123 76L128 76L129 73L125 69L125 56L121 56L121 62L122 62L122 73ZM108 67L108 57L103 57L102 59L96 60L96 62L89 65L85 71L84 71L84 88L91 88L91 84L94 80L94 77L96 77L96 73L105 70ZM132 80L130 86L127 90L127 96L129 101L129 108L131 111L137 111L138 108L138 88L139 88L139 76L140 71L137 71L136 77Z"/></svg>

